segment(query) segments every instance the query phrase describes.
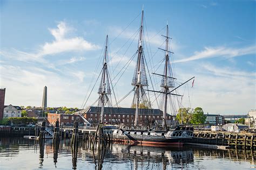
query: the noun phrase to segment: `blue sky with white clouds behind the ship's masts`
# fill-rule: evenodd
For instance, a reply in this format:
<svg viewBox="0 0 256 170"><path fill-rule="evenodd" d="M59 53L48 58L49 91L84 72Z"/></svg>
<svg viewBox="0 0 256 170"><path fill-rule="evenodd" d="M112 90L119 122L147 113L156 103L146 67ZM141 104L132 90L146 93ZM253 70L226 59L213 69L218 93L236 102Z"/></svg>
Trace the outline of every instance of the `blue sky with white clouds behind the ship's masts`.
<svg viewBox="0 0 256 170"><path fill-rule="evenodd" d="M0 88L5 105L82 108L98 97L102 49L117 101L131 86L144 5L144 53L151 72L162 73L166 23L181 106L212 114L246 114L256 108L255 1L1 1ZM158 66L159 65L159 66ZM152 77L159 82L159 77ZM123 75L123 76L120 76ZM151 84L152 85L152 84ZM156 83L149 89L158 89ZM130 107L133 95L120 107ZM150 98L153 98L151 95ZM154 101L154 99L151 99ZM112 94L112 103L114 102ZM158 108L152 102L153 108ZM169 108L170 109L170 108Z"/></svg>

